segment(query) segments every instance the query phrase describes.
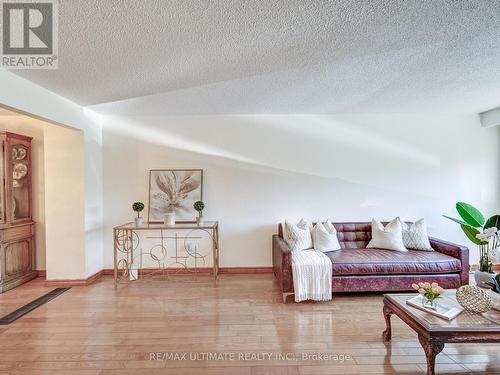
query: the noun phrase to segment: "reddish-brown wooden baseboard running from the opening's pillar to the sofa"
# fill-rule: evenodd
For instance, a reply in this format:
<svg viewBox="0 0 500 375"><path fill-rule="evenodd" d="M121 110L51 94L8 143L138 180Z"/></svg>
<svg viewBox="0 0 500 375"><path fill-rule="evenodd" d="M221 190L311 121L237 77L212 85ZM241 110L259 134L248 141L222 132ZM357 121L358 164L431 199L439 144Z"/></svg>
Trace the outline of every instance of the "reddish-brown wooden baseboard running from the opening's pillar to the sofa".
<svg viewBox="0 0 500 375"><path fill-rule="evenodd" d="M161 271L160 269L144 269L141 270L142 274L150 274L153 272ZM211 267L197 268L197 272L201 274L211 274ZM192 271L186 270L185 268L169 268L169 272L175 273L177 275L188 275L192 274ZM237 275L237 274L264 274L273 273L273 267L222 267L219 269L219 274ZM55 286L55 287L67 287L67 286L87 286L102 276L114 275L114 270L110 268L103 269L96 272L95 274L87 277L86 279L61 279L61 280L46 280L45 286ZM47 273L44 270L38 271L38 277L47 277Z"/></svg>

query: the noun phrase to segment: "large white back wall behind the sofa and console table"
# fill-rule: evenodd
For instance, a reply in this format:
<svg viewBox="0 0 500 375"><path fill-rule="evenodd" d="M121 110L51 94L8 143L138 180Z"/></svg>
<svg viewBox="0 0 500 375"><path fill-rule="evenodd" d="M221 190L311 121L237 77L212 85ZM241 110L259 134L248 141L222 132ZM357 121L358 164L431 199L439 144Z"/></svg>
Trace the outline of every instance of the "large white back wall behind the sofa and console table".
<svg viewBox="0 0 500 375"><path fill-rule="evenodd" d="M499 211L499 132L477 115L106 116L104 266L112 227L147 202L148 171L162 168L204 169L222 266L270 265L284 218L425 217L432 235L468 244L441 215L458 200Z"/></svg>

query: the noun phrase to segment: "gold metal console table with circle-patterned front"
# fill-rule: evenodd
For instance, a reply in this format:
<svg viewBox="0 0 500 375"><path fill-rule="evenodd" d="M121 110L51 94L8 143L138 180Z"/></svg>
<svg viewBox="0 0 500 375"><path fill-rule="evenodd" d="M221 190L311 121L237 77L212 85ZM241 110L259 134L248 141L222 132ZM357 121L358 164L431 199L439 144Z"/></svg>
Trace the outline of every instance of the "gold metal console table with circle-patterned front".
<svg viewBox="0 0 500 375"><path fill-rule="evenodd" d="M212 253L212 275L219 273L219 223L208 221L203 225L176 223L166 226L144 223L135 226L126 223L113 228L114 285L121 281L137 280L161 273L198 273L206 266ZM211 244L211 251L207 245ZM204 267L206 269L206 267Z"/></svg>

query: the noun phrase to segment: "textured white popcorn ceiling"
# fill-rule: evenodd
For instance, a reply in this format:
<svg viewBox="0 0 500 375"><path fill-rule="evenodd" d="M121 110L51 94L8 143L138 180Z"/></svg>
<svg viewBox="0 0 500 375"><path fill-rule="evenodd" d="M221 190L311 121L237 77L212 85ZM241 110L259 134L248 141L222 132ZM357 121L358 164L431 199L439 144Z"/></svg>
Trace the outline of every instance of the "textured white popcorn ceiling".
<svg viewBox="0 0 500 375"><path fill-rule="evenodd" d="M500 104L499 0L65 0L59 11L59 69L14 73L104 113Z"/></svg>

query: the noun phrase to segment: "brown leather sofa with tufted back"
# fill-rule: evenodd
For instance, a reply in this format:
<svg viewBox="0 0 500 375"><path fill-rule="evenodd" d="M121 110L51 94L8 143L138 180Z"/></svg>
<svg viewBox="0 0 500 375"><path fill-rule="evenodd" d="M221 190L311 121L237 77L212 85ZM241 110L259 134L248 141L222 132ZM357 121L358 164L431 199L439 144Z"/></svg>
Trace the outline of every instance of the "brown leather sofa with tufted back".
<svg viewBox="0 0 500 375"><path fill-rule="evenodd" d="M334 226L342 249L325 253L332 260L334 293L408 291L419 281L435 281L447 289L469 283L467 247L429 238L435 251L367 249L371 223ZM273 235L273 268L283 302L293 301L292 253L281 224Z"/></svg>

